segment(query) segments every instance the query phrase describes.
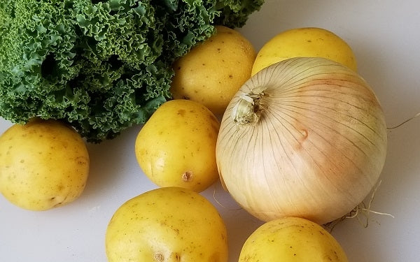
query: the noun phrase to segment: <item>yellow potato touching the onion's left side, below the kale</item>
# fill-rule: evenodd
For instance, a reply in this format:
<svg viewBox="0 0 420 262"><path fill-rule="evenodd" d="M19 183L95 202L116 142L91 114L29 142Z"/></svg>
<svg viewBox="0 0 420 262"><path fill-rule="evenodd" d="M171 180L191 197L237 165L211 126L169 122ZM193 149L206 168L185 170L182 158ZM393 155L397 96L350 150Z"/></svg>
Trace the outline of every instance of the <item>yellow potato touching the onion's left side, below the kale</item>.
<svg viewBox="0 0 420 262"><path fill-rule="evenodd" d="M219 127L218 119L204 105L183 99L168 101L137 136L139 166L160 187L203 191L218 180Z"/></svg>

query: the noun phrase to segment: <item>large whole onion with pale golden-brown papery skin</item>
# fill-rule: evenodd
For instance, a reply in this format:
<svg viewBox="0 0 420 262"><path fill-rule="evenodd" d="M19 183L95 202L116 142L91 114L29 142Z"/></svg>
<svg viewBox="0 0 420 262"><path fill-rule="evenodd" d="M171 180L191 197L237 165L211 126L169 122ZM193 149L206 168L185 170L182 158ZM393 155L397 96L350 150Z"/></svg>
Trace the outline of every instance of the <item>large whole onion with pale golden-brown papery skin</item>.
<svg viewBox="0 0 420 262"><path fill-rule="evenodd" d="M262 221L343 217L370 193L386 158L374 92L323 58L288 59L254 75L230 101L219 132L223 186Z"/></svg>

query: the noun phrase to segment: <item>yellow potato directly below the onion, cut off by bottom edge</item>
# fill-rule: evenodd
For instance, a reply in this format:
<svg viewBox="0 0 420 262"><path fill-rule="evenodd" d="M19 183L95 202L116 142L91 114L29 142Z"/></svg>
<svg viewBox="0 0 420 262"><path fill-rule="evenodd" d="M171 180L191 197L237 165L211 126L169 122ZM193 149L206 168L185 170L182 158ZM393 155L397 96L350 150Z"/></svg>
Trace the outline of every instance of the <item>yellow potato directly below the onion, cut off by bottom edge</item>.
<svg viewBox="0 0 420 262"><path fill-rule="evenodd" d="M239 262L347 262L337 240L307 219L285 217L262 224L246 240Z"/></svg>

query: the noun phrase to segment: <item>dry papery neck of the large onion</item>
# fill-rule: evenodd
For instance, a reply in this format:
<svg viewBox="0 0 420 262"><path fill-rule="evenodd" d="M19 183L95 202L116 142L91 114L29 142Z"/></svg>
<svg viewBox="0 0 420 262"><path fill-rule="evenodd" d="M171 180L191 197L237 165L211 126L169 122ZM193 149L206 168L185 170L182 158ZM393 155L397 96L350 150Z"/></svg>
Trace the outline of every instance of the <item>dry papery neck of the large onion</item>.
<svg viewBox="0 0 420 262"><path fill-rule="evenodd" d="M262 112L260 104L262 96L264 96L263 92L241 94L232 109L233 122L239 125L257 124Z"/></svg>

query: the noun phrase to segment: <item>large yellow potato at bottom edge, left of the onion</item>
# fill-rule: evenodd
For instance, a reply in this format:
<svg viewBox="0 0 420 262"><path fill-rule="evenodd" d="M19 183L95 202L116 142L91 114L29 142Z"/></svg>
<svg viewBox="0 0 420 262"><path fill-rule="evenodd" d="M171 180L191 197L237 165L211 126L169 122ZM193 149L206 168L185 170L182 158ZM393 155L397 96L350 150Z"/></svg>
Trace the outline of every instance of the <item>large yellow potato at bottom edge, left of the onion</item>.
<svg viewBox="0 0 420 262"><path fill-rule="evenodd" d="M116 210L106 229L106 256L109 262L226 262L228 235L204 196L161 187Z"/></svg>

